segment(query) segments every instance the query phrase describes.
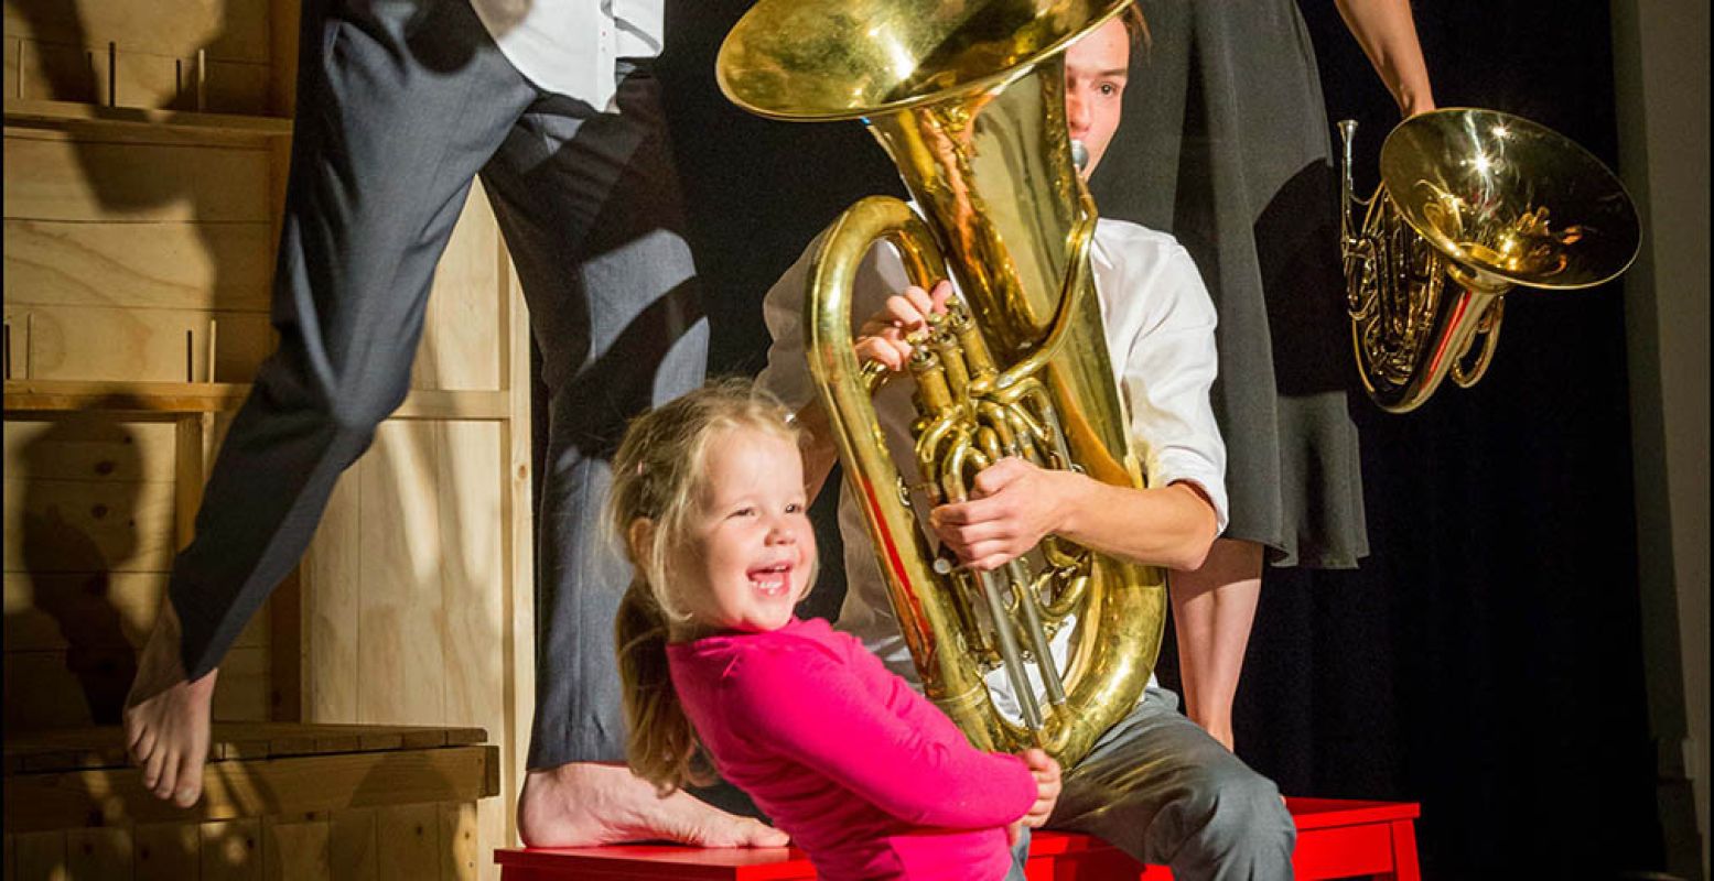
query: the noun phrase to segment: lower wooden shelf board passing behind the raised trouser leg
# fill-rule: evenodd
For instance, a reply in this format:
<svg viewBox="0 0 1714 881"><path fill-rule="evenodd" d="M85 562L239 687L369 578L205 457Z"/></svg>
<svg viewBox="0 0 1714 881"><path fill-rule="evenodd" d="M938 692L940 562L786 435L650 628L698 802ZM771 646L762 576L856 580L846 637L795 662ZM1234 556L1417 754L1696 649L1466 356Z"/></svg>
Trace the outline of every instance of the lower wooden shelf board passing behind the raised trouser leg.
<svg viewBox="0 0 1714 881"><path fill-rule="evenodd" d="M250 394L245 382L125 382L81 379L9 379L5 415L77 411L137 413L170 418L190 413L230 413ZM511 393L411 389L393 418L509 420Z"/></svg>

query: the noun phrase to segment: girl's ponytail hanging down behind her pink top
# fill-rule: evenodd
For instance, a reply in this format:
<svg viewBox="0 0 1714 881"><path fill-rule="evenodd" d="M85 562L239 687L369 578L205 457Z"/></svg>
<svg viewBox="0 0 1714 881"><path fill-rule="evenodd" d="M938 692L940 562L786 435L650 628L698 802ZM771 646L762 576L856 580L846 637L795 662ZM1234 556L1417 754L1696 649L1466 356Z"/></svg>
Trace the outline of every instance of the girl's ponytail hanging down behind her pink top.
<svg viewBox="0 0 1714 881"><path fill-rule="evenodd" d="M701 758L701 740L684 716L667 670L667 615L648 583L631 583L614 619L619 679L624 684L626 761L631 771L662 795L686 783L710 785L713 773Z"/></svg>

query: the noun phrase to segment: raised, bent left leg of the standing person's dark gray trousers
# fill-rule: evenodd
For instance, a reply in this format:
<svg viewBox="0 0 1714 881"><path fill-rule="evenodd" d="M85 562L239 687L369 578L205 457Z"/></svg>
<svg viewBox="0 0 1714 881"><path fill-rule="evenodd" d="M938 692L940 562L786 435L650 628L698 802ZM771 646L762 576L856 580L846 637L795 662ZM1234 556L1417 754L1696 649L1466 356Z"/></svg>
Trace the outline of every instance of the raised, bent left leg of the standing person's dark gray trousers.
<svg viewBox="0 0 1714 881"><path fill-rule="evenodd" d="M309 0L298 65L279 350L233 420L170 581L192 677L297 566L339 473L405 399L470 182L535 99L463 0Z"/></svg>

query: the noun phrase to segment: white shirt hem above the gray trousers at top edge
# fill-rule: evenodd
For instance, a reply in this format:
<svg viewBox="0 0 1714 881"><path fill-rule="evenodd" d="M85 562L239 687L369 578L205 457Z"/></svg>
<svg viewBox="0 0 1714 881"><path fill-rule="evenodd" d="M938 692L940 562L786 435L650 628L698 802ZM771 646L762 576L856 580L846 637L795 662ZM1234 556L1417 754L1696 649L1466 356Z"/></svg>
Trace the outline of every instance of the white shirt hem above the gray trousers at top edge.
<svg viewBox="0 0 1714 881"><path fill-rule="evenodd" d="M608 110L619 58L660 55L663 0L470 0L506 60L540 89Z"/></svg>

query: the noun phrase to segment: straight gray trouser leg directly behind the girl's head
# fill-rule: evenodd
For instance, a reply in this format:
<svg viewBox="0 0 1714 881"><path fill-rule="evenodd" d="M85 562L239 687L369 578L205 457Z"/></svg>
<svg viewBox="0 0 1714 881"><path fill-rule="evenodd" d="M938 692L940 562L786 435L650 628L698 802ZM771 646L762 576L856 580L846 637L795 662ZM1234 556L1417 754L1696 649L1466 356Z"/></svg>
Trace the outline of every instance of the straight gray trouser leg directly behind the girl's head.
<svg viewBox="0 0 1714 881"><path fill-rule="evenodd" d="M607 463L626 420L701 384L708 353L658 84L641 63L619 74L617 111L543 96L482 171L548 387L531 770L624 759L614 612L631 569L602 524Z"/></svg>

